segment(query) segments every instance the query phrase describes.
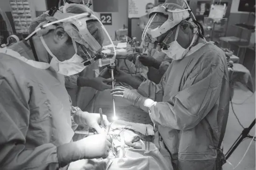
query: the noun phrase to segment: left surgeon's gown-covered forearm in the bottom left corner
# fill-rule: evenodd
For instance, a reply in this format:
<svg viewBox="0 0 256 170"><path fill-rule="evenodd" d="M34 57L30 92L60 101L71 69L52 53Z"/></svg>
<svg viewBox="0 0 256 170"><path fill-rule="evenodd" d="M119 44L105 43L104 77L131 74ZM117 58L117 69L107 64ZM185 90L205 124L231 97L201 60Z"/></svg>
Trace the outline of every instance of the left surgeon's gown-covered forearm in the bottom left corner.
<svg viewBox="0 0 256 170"><path fill-rule="evenodd" d="M1 170L57 170L57 147L48 143L28 149L19 141L9 142L0 147L0 167Z"/></svg>

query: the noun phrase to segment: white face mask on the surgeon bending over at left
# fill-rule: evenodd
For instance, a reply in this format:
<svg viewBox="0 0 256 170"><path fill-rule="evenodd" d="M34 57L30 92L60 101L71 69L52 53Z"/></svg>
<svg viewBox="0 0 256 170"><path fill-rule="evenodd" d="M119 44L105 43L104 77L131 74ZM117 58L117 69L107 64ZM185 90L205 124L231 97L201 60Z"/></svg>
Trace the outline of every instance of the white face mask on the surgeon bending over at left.
<svg viewBox="0 0 256 170"><path fill-rule="evenodd" d="M76 42L74 42L74 40L72 40L73 42L73 46L74 49L76 51L76 54L74 54L69 60L65 60L65 61L59 61L57 59L57 57L52 54L52 52L50 51L50 49L48 48L48 46L46 45L45 41L43 40L43 37L40 36L40 39L43 43L44 48L46 49L46 51L52 56L52 59L50 61L50 66L52 68L54 68L59 74L62 75L75 75L80 73L81 71L83 71L85 69L86 66L84 66L83 62L83 58L81 58L78 54L77 54L77 47L76 47Z"/></svg>

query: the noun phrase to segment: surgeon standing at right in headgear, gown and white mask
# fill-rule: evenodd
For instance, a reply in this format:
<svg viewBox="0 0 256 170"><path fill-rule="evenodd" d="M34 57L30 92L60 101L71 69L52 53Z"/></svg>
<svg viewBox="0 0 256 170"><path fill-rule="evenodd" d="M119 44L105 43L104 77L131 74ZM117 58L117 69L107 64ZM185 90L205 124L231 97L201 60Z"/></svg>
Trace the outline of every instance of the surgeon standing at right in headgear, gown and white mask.
<svg viewBox="0 0 256 170"><path fill-rule="evenodd" d="M161 82L140 82L119 71L116 81L137 93L124 87L111 92L149 113L157 129L154 142L162 143L162 154L169 152L174 170L215 170L229 110L228 66L223 51L204 40L188 10L173 1L149 14L144 45L172 59Z"/></svg>

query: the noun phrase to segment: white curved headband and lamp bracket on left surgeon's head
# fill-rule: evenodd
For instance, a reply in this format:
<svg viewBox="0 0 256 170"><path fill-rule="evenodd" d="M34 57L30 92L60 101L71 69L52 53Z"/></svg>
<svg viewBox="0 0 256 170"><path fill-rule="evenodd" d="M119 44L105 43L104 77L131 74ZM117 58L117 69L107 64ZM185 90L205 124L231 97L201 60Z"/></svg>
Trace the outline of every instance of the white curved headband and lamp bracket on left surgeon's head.
<svg viewBox="0 0 256 170"><path fill-rule="evenodd" d="M86 57L85 60L87 58L94 58L94 56L101 50L101 46L98 43L98 41L96 41L94 39L94 37L88 31L87 26L86 26L86 21L87 20L98 20L100 22L102 29L107 34L108 39L111 41L111 44L114 47L114 43L111 40L110 35L107 33L106 28L103 26L101 21L95 15L93 15L91 13L83 13L83 14L61 13L61 12L57 11L54 14L54 17L57 19L56 21L50 22L48 24L45 24L45 25L37 28L33 33L28 35L28 37L25 38L25 40L28 40L30 37L32 37L34 34L36 34L36 32L40 31L41 29L44 29L45 27L52 26L59 22L63 22L64 27L65 27L65 23L73 24L75 27L77 27L78 33L80 35L78 38L71 36L72 39L74 39L76 42L78 42L81 45L78 47L78 52L83 51L83 53L85 55L90 55L89 57ZM81 41L81 39L83 41ZM80 50L80 48L81 48L81 50ZM89 50L86 50L86 48ZM92 53L90 54L88 51L92 51ZM116 50L114 48L114 56L113 56L113 59L110 61L110 63L113 63L112 61L115 61L115 57L116 57Z"/></svg>

